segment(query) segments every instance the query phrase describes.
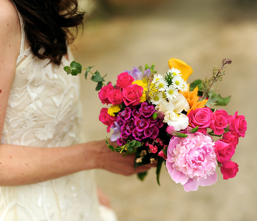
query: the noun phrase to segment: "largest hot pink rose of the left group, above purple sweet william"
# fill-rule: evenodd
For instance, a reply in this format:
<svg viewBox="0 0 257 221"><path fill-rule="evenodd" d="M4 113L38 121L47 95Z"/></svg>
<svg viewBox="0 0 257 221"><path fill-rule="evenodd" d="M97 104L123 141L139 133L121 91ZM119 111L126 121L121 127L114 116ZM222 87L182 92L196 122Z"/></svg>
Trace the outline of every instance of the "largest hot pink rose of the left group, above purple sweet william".
<svg viewBox="0 0 257 221"><path fill-rule="evenodd" d="M143 95L143 88L137 84L124 87L122 91L122 98L126 106L136 106L139 104L140 97Z"/></svg>

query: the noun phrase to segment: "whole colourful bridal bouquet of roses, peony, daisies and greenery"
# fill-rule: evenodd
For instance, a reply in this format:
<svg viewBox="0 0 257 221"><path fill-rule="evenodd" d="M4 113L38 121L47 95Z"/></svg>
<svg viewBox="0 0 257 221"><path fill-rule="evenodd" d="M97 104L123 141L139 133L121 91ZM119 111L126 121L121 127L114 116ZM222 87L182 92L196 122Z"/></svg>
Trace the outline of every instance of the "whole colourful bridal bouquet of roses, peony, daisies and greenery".
<svg viewBox="0 0 257 221"><path fill-rule="evenodd" d="M222 98L217 90L223 68L230 63L223 59L210 79L190 85L186 80L192 68L174 58L164 75L157 75L154 65L119 74L115 85L109 82L99 92L101 102L110 104L101 109L99 120L107 132L113 129L111 141L117 140L119 145L114 148L106 140L107 146L112 151L135 153L135 167L157 161L158 184L165 162L172 180L181 183L186 192L216 183L217 166L223 179L236 176L238 164L231 157L247 124L238 112L228 115L214 106L226 105L230 99ZM103 78L100 80L97 82L103 85Z"/></svg>

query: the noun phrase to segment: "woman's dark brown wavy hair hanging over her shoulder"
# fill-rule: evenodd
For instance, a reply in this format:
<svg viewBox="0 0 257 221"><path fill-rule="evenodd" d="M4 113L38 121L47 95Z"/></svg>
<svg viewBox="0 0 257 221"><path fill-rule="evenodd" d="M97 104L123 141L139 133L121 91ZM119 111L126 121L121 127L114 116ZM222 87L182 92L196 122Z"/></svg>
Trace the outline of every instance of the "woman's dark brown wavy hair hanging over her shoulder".
<svg viewBox="0 0 257 221"><path fill-rule="evenodd" d="M77 0L11 0L23 17L34 55L60 65L67 43L75 37L71 27L82 24L84 12Z"/></svg>

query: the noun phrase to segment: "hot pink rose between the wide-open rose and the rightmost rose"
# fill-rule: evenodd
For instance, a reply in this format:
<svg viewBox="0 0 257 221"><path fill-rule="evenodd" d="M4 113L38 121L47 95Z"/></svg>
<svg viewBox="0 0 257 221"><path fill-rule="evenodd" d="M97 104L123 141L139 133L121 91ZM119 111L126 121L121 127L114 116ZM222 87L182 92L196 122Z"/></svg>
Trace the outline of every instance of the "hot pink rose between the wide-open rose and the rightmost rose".
<svg viewBox="0 0 257 221"><path fill-rule="evenodd" d="M223 134L224 128L228 125L228 113L224 110L216 110L212 116L212 122L210 123L210 129L214 131L214 134Z"/></svg>

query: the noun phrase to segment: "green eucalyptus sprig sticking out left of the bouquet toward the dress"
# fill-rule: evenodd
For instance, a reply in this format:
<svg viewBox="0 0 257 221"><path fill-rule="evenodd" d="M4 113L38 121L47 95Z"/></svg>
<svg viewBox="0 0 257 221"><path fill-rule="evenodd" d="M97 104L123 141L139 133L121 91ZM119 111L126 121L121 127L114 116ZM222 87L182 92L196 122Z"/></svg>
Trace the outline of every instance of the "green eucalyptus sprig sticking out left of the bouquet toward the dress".
<svg viewBox="0 0 257 221"><path fill-rule="evenodd" d="M72 61L70 65L71 66L65 66L63 68L67 72L67 74L78 75L78 74L81 74L82 69L85 69L86 70L85 79L87 80L87 75L90 72L92 74L91 80L94 82L97 82L97 86L96 86L95 90L99 91L103 87L103 85L104 85L103 81L105 81L104 77L106 77L107 74L105 76L101 77L99 71L96 71L95 73L90 71L90 69L95 66L83 68L81 66L81 64L77 63L76 61Z"/></svg>

